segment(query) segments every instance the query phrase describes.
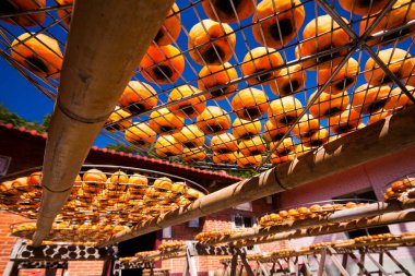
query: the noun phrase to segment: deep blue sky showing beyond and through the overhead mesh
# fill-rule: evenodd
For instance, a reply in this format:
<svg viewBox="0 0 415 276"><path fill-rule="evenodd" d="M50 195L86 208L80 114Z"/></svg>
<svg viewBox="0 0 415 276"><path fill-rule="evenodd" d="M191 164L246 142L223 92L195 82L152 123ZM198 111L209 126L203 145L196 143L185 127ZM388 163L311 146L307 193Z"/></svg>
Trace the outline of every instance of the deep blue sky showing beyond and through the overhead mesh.
<svg viewBox="0 0 415 276"><path fill-rule="evenodd" d="M48 1L48 3L50 1ZM189 2L190 2L190 0L178 0L177 4L179 5L179 8L183 8L183 7L187 7L189 4ZM303 28L305 27L305 25L316 16L315 3L313 2L307 3L305 5L305 8L306 8L306 19L305 19L305 23L303 24L303 27L301 27L299 34L303 33ZM342 16L349 20L351 15L347 12L343 11L340 7L336 7L336 10L341 13ZM200 7L200 4L198 4L197 11L198 11L198 13L202 20L206 19L206 16L205 16L202 8ZM322 10L319 9L319 15L322 15L322 14L323 14ZM181 14L181 21L182 21L182 24L186 26L186 28L189 31L191 28L191 26L193 26L195 23L199 22L199 19L197 16L195 11L192 9L189 9ZM50 19L49 19L49 22L50 22ZM251 22L251 17L242 21L241 25L242 26L247 25L250 22ZM8 29L11 29L14 34L19 35L19 34L23 33L22 29L20 29L17 27L11 27L10 25L8 25L3 22L0 22L0 24L2 26L7 27ZM236 24L236 23L230 24L230 26L234 29L238 28L238 24ZM55 27L55 28L57 28L57 27ZM355 26L355 31L357 31L357 26ZM52 29L52 32L55 32L55 29ZM248 37L249 48L254 48L254 47L260 46L259 44L257 44L253 40L252 35L250 33L250 28L247 28L245 31L245 33ZM62 39L66 36L66 34L58 28L56 29L56 32L54 34L57 37L59 37L60 39ZM406 39L406 41L400 44L400 47L403 49L407 49L407 47L410 45L408 40L410 39ZM186 34L183 32L181 32L180 37L179 37L177 43L181 49L187 49L187 37L186 37ZM290 45L293 45L294 43L295 43L295 40L293 40L290 43ZM411 53L413 53L413 51L414 50L412 50ZM239 61L241 61L244 59L245 55L247 53L247 46L246 46L246 44L242 39L242 36L240 34L237 35L237 46L236 46L235 52L236 52ZM284 57L284 55L283 55L283 57ZM357 59L358 55L354 55L353 57L355 59ZM288 61L292 61L295 59L294 58L294 47L286 50L286 58ZM365 53L363 56L363 64L360 68L364 67L364 62L366 62L367 58L368 58L368 56ZM189 58L188 60L191 60L191 59ZM236 60L233 58L229 62L235 64ZM186 64L186 65L187 67L186 67L185 73L183 73L183 79L195 80L195 74L190 70L190 67L188 64ZM192 62L192 65L194 67L195 71L199 71L201 69L201 67L195 64L194 62ZM238 72L238 73L240 73L240 72ZM139 79L143 80L141 76L139 76ZM316 73L315 72L307 71L307 79L308 79L307 86L315 86L316 85ZM179 80L176 84L180 84L182 82L183 82L182 80ZM359 77L358 82L357 82L357 86L363 84L364 82L365 82L364 79ZM242 87L245 84L241 84L239 86L239 88ZM167 89L170 87L169 85L162 85L158 87L156 85L153 85L153 86L156 88L156 91ZM272 99L276 98L275 95L273 95L271 93L269 87L264 86L263 88L266 91L266 94L269 95L270 98L272 98ZM307 92L307 95L309 96L310 93L312 93L312 92L313 91ZM301 96L300 96L300 98L301 98ZM161 100L165 101L166 97L161 96ZM304 99L303 99L303 101L304 101ZM38 121L38 122L40 122L43 120L43 117L45 115L50 113L52 111L52 108L54 108L54 104L48 98L46 98L38 89L36 89L34 86L32 86L17 71L15 71L2 58L0 58L0 103L3 106L8 107L11 111L17 113L19 116L21 116L21 117L23 117L29 121ZM233 117L233 119L235 118L234 116L232 116L232 117ZM95 142L95 144L98 146L105 146L109 143L112 143L111 140L104 137L102 135Z"/></svg>

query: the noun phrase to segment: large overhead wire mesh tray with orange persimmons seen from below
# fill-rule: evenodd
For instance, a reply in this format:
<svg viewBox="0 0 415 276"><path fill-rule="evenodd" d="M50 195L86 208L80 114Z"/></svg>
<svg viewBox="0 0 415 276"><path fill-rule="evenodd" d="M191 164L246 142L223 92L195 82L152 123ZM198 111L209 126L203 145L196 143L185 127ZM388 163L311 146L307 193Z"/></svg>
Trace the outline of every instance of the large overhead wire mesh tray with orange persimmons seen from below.
<svg viewBox="0 0 415 276"><path fill-rule="evenodd" d="M72 2L0 15L2 57L52 100ZM293 160L414 103L414 19L411 0L179 0L104 133L201 168Z"/></svg>

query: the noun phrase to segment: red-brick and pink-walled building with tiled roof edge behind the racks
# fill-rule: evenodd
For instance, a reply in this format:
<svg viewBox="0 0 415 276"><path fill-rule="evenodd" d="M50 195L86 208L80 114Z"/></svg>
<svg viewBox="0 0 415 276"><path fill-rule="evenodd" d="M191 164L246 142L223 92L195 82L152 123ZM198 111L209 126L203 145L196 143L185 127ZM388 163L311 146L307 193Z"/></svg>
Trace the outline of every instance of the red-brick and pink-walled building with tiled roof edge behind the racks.
<svg viewBox="0 0 415 276"><path fill-rule="evenodd" d="M11 156L12 163L10 171L17 171L42 164L45 134L27 131L23 128L0 124L0 152L2 155ZM29 153L29 154L28 154ZM308 183L306 185L285 191L281 194L261 199L252 203L242 204L232 209L226 209L214 215L193 220L191 223L174 226L163 231L149 235L152 237L150 247L153 249L163 242L170 240L191 240L194 235L204 230L223 230L237 227L251 227L256 217L275 208L288 208L294 205L301 205L309 202L324 201L331 199L364 197L370 195L374 200L382 200L384 185L396 178L413 172L415 168L415 148L396 153L378 160L368 161L365 165L348 169L325 179ZM112 164L123 166L141 166L154 168L166 172L180 172L187 178L201 180L202 184L210 191L228 185L238 181L238 178L226 173L199 170L186 166L169 164L152 158L137 157L129 154L116 153L94 147L87 159L91 164ZM180 166L180 170L177 170ZM379 169L382 168L382 169ZM202 176L202 177L201 177ZM3 269L15 239L7 237L10 224L22 221L21 217L2 213L0 221L0 272ZM384 228L383 228L384 230ZM390 232L415 231L415 223L388 226L386 230ZM283 247L303 247L312 242L345 239L346 233L330 236L309 237L292 241L273 242L260 245L262 251L271 251ZM142 240L141 240L142 241ZM140 244L140 239L135 241ZM135 242L129 243L134 244ZM134 247L128 247L131 252L137 252ZM415 271L413 249L399 249L393 254L405 264L410 271ZM222 265L217 256L198 256L197 264L199 275L213 275ZM173 275L182 274L183 259L174 259L158 263L163 268L171 271ZM70 275L100 275L103 262L71 262ZM87 274L85 274L87 271Z"/></svg>

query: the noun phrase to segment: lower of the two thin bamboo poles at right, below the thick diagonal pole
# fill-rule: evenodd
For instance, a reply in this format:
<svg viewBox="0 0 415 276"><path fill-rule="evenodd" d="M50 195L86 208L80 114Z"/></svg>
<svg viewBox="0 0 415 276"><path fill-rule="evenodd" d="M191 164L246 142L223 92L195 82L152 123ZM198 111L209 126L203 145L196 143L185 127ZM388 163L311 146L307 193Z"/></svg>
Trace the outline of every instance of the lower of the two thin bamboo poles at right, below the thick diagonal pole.
<svg viewBox="0 0 415 276"><path fill-rule="evenodd" d="M325 226L316 226L311 228L301 228L297 230L290 230L285 232L278 232L270 236L259 237L250 240L246 240L244 244L241 242L235 242L237 245L249 247L260 243L269 243L280 240L298 239L304 237L315 237L321 235L345 232L349 230L370 228L376 226L401 224L415 220L415 211L401 211L396 213L388 213L374 217L365 217L348 223L340 223Z"/></svg>

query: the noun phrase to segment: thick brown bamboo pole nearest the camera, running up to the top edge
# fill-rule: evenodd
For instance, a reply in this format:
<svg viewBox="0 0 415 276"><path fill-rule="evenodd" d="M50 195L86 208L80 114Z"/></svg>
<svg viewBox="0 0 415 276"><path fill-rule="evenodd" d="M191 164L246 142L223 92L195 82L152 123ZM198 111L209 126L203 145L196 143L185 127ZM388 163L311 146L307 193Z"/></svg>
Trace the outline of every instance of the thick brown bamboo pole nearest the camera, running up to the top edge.
<svg viewBox="0 0 415 276"><path fill-rule="evenodd" d="M76 0L46 144L34 245L67 201L86 155L173 0Z"/></svg>

